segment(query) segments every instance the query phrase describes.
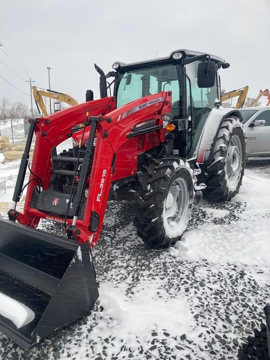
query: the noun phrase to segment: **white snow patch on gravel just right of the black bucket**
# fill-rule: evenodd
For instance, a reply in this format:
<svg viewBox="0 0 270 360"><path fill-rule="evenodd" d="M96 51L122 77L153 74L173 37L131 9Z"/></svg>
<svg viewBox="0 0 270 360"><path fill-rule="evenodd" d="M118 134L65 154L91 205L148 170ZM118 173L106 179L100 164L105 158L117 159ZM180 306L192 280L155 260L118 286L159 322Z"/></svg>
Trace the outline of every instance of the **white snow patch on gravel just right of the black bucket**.
<svg viewBox="0 0 270 360"><path fill-rule="evenodd" d="M162 300L158 293L160 283L140 281L134 288L132 299L126 300L126 285L113 287L109 282L99 286L102 314L114 319L114 326L104 329L110 335L136 345L136 338L151 329L166 329L170 333L192 336L195 322L187 300L182 297ZM98 326L96 326L97 328ZM95 331L95 330L93 330Z"/></svg>

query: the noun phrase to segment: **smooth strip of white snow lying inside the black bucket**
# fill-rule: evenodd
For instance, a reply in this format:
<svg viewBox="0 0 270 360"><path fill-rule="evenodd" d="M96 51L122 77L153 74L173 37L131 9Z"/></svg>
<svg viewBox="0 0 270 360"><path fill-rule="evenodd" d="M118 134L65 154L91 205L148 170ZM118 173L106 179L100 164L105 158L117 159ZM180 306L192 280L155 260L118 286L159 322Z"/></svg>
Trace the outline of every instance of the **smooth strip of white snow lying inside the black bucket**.
<svg viewBox="0 0 270 360"><path fill-rule="evenodd" d="M20 328L34 319L34 312L21 302L0 292L0 314Z"/></svg>

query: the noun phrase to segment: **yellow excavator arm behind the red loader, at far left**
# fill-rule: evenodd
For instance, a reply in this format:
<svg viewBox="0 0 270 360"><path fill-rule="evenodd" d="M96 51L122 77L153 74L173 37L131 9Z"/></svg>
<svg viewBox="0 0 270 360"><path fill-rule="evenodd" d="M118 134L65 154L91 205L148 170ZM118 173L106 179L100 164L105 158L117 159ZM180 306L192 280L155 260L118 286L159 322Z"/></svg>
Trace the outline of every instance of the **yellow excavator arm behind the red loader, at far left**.
<svg viewBox="0 0 270 360"><path fill-rule="evenodd" d="M48 116L48 113L42 96L49 97L57 101L63 101L70 106L76 105L78 103L73 97L62 92L57 92L48 89L45 91L43 89L37 89L36 86L32 86L32 91L33 91L34 101L37 106L37 110L40 113L40 109L41 109L43 116Z"/></svg>

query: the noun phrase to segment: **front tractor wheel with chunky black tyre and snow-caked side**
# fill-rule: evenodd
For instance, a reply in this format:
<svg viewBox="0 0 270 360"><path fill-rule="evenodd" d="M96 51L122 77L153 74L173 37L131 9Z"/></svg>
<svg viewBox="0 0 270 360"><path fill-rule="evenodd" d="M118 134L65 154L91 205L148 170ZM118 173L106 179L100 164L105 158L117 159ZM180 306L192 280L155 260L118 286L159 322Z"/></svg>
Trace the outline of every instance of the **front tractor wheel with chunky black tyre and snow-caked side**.
<svg viewBox="0 0 270 360"><path fill-rule="evenodd" d="M134 225L154 247L175 243L186 229L193 204L193 172L179 157L154 159L139 176Z"/></svg>

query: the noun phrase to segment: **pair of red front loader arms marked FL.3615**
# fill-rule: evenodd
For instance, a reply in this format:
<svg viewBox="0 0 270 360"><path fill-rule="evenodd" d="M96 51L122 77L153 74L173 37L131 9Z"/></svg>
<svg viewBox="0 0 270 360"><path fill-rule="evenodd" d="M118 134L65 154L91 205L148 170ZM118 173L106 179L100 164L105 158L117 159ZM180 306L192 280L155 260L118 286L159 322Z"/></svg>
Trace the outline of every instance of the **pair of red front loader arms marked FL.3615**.
<svg viewBox="0 0 270 360"><path fill-rule="evenodd" d="M89 241L91 247L97 243L114 173L113 159L119 148L132 137L147 132L156 132L159 142L163 142L166 130L163 128L161 116L170 112L170 106L171 91L148 95L117 109L115 109L115 98L105 97L35 120L36 140L31 170L33 174L44 179L43 190L46 190L52 173L51 148L70 136L71 128L83 121L88 107L90 108L88 117L90 125L85 132L85 138L89 139L90 136L92 140L93 136L96 138L93 162L91 171L86 172L84 177L80 176L77 183L77 187L81 189L80 193L84 194L85 184L89 182L84 213L81 218L76 214L73 218L66 219L66 230L77 241L83 243ZM147 125L149 120L151 124ZM137 127L144 122L146 126ZM94 133L91 134L93 128ZM90 151L92 151L91 145L89 145ZM80 173L87 166L86 162L82 162ZM29 181L35 177L33 174L30 175ZM31 181L27 187L24 213L13 210L13 216L19 223L31 227L35 227L41 217L48 217L46 213L31 205L35 185L35 181ZM75 196L70 207L79 208L80 200ZM49 218L63 222L63 219L57 216L49 216Z"/></svg>

